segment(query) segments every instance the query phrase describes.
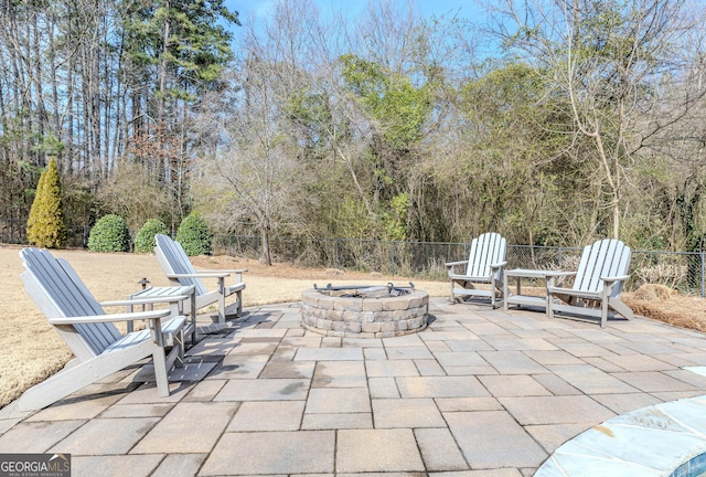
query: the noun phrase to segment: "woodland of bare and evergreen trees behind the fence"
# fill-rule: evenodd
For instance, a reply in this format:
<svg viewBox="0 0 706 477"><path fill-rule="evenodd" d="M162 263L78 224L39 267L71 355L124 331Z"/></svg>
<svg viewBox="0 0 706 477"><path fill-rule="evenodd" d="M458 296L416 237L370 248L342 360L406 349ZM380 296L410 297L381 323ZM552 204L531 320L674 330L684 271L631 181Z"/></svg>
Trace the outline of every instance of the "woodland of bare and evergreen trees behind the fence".
<svg viewBox="0 0 706 477"><path fill-rule="evenodd" d="M265 263L272 236L706 246L700 1L496 0L478 21L281 0L252 24L223 0L0 10L10 226L55 157L69 224L196 210L259 235Z"/></svg>

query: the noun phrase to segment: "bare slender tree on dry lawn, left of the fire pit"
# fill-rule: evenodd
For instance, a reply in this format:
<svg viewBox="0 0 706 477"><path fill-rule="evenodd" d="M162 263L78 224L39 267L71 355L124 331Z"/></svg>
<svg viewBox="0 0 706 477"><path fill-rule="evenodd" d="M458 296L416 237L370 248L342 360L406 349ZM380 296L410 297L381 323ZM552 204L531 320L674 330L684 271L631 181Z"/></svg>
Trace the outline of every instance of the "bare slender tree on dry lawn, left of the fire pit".
<svg viewBox="0 0 706 477"><path fill-rule="evenodd" d="M298 188L296 148L285 106L302 74L297 67L303 57L302 39L298 40L295 31L282 34L287 28L298 28L291 18L296 14L301 11L280 6L278 28L266 28L261 39L249 31L243 57L233 71L234 87L225 95L227 116L223 110L211 110L212 124L218 125L225 145L210 162L217 179L208 179L200 188L202 200L212 193L226 198L223 208L213 208L213 202L210 208L210 218L222 227L235 230L246 223L259 232L260 261L267 265L272 261L272 229L286 221L292 191Z"/></svg>

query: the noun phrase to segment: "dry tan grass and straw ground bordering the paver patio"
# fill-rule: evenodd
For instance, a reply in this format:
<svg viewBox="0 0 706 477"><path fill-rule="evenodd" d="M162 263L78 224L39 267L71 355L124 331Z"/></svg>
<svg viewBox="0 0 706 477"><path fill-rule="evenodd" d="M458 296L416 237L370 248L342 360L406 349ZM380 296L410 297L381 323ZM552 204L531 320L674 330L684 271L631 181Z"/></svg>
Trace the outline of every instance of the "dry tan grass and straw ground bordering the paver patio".
<svg viewBox="0 0 706 477"><path fill-rule="evenodd" d="M32 384L58 371L71 352L53 327L25 294L20 279L23 272L20 247L0 245L0 297L3 333L0 335L0 407L19 398ZM137 284L147 277L153 286L167 286L153 255L99 254L85 251L56 251L66 258L98 300L113 300L139 290ZM264 266L256 261L227 256L195 257L196 268L247 268L244 305L253 307L275 303L298 301L301 292L313 284L356 282L365 284L404 283L402 277L341 273L322 268L300 268L287 264ZM447 296L447 282L416 282L431 296ZM213 284L206 284L212 286ZM678 295L660 285L644 285L634 293L623 294L637 315L662 320L674 326L706 331L704 300ZM113 310L122 311L122 310Z"/></svg>

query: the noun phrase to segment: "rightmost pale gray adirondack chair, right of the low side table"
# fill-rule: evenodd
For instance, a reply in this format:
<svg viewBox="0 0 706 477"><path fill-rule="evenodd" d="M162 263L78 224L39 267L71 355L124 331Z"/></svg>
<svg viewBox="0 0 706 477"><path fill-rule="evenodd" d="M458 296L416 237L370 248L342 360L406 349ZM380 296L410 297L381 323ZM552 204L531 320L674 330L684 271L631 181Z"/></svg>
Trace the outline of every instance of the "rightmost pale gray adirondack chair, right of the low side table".
<svg viewBox="0 0 706 477"><path fill-rule="evenodd" d="M575 275L574 285L559 287L557 276L547 282L547 316L554 318L559 311L600 318L605 327L608 317L614 314L632 319L633 312L620 299L623 284L630 275L630 247L619 240L600 240L587 245Z"/></svg>

